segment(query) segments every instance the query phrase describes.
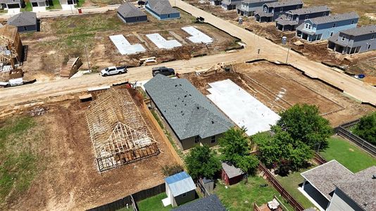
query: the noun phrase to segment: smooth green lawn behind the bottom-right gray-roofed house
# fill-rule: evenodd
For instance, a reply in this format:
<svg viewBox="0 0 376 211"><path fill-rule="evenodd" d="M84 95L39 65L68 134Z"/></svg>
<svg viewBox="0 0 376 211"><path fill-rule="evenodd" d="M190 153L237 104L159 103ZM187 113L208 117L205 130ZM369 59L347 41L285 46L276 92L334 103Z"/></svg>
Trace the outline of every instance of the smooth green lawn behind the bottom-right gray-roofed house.
<svg viewBox="0 0 376 211"><path fill-rule="evenodd" d="M328 161L337 160L354 173L376 165L376 158L368 155L350 141L339 136L332 136L328 142L328 148L320 153Z"/></svg>

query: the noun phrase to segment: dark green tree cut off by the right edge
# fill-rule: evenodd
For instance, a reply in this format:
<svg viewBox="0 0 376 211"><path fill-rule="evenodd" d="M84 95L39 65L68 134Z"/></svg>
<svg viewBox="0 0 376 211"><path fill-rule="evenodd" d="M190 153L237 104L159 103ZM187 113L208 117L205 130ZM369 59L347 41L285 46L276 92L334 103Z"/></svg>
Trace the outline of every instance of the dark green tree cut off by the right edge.
<svg viewBox="0 0 376 211"><path fill-rule="evenodd" d="M353 132L365 141L376 145L376 112L361 117Z"/></svg>

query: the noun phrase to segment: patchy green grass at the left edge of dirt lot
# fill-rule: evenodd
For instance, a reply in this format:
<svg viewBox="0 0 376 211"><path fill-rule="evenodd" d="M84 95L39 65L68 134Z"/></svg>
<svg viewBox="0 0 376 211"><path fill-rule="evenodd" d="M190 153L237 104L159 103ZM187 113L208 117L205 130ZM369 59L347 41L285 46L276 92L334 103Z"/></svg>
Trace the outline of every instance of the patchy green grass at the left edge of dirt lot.
<svg viewBox="0 0 376 211"><path fill-rule="evenodd" d="M0 204L27 191L43 165L36 151L38 127L32 117L0 122Z"/></svg>

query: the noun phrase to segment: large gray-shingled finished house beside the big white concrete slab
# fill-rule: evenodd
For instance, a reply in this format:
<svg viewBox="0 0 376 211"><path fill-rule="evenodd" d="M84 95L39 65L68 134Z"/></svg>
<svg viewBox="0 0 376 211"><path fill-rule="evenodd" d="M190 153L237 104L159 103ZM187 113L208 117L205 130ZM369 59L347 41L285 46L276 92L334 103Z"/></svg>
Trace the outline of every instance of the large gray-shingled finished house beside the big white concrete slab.
<svg viewBox="0 0 376 211"><path fill-rule="evenodd" d="M215 146L218 137L234 127L187 79L156 75L144 87L183 150L196 143Z"/></svg>

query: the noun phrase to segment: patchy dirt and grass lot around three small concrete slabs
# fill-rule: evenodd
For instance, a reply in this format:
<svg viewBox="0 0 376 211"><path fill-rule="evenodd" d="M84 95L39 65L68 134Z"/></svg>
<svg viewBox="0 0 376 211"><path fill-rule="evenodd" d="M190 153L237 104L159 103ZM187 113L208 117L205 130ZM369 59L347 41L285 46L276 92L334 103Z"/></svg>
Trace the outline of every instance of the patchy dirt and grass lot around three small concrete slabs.
<svg viewBox="0 0 376 211"><path fill-rule="evenodd" d="M147 23L123 23L115 11L101 14L74 15L58 18L42 18L41 32L21 34L28 47L27 60L23 65L25 79L38 81L58 77L62 64L70 57L82 58L82 69L87 68L85 46L89 62L94 70L108 65L138 66L139 58L155 56L158 62L189 59L204 53L215 54L239 47L237 39L207 24L196 24L195 18L180 11L177 20L160 21L148 14ZM213 44L193 44L185 37L189 34L181 27L195 26L214 39ZM182 47L172 50L158 49L145 35L156 33L165 39L177 39ZM145 53L121 56L108 36L123 34L131 44L143 44Z"/></svg>

